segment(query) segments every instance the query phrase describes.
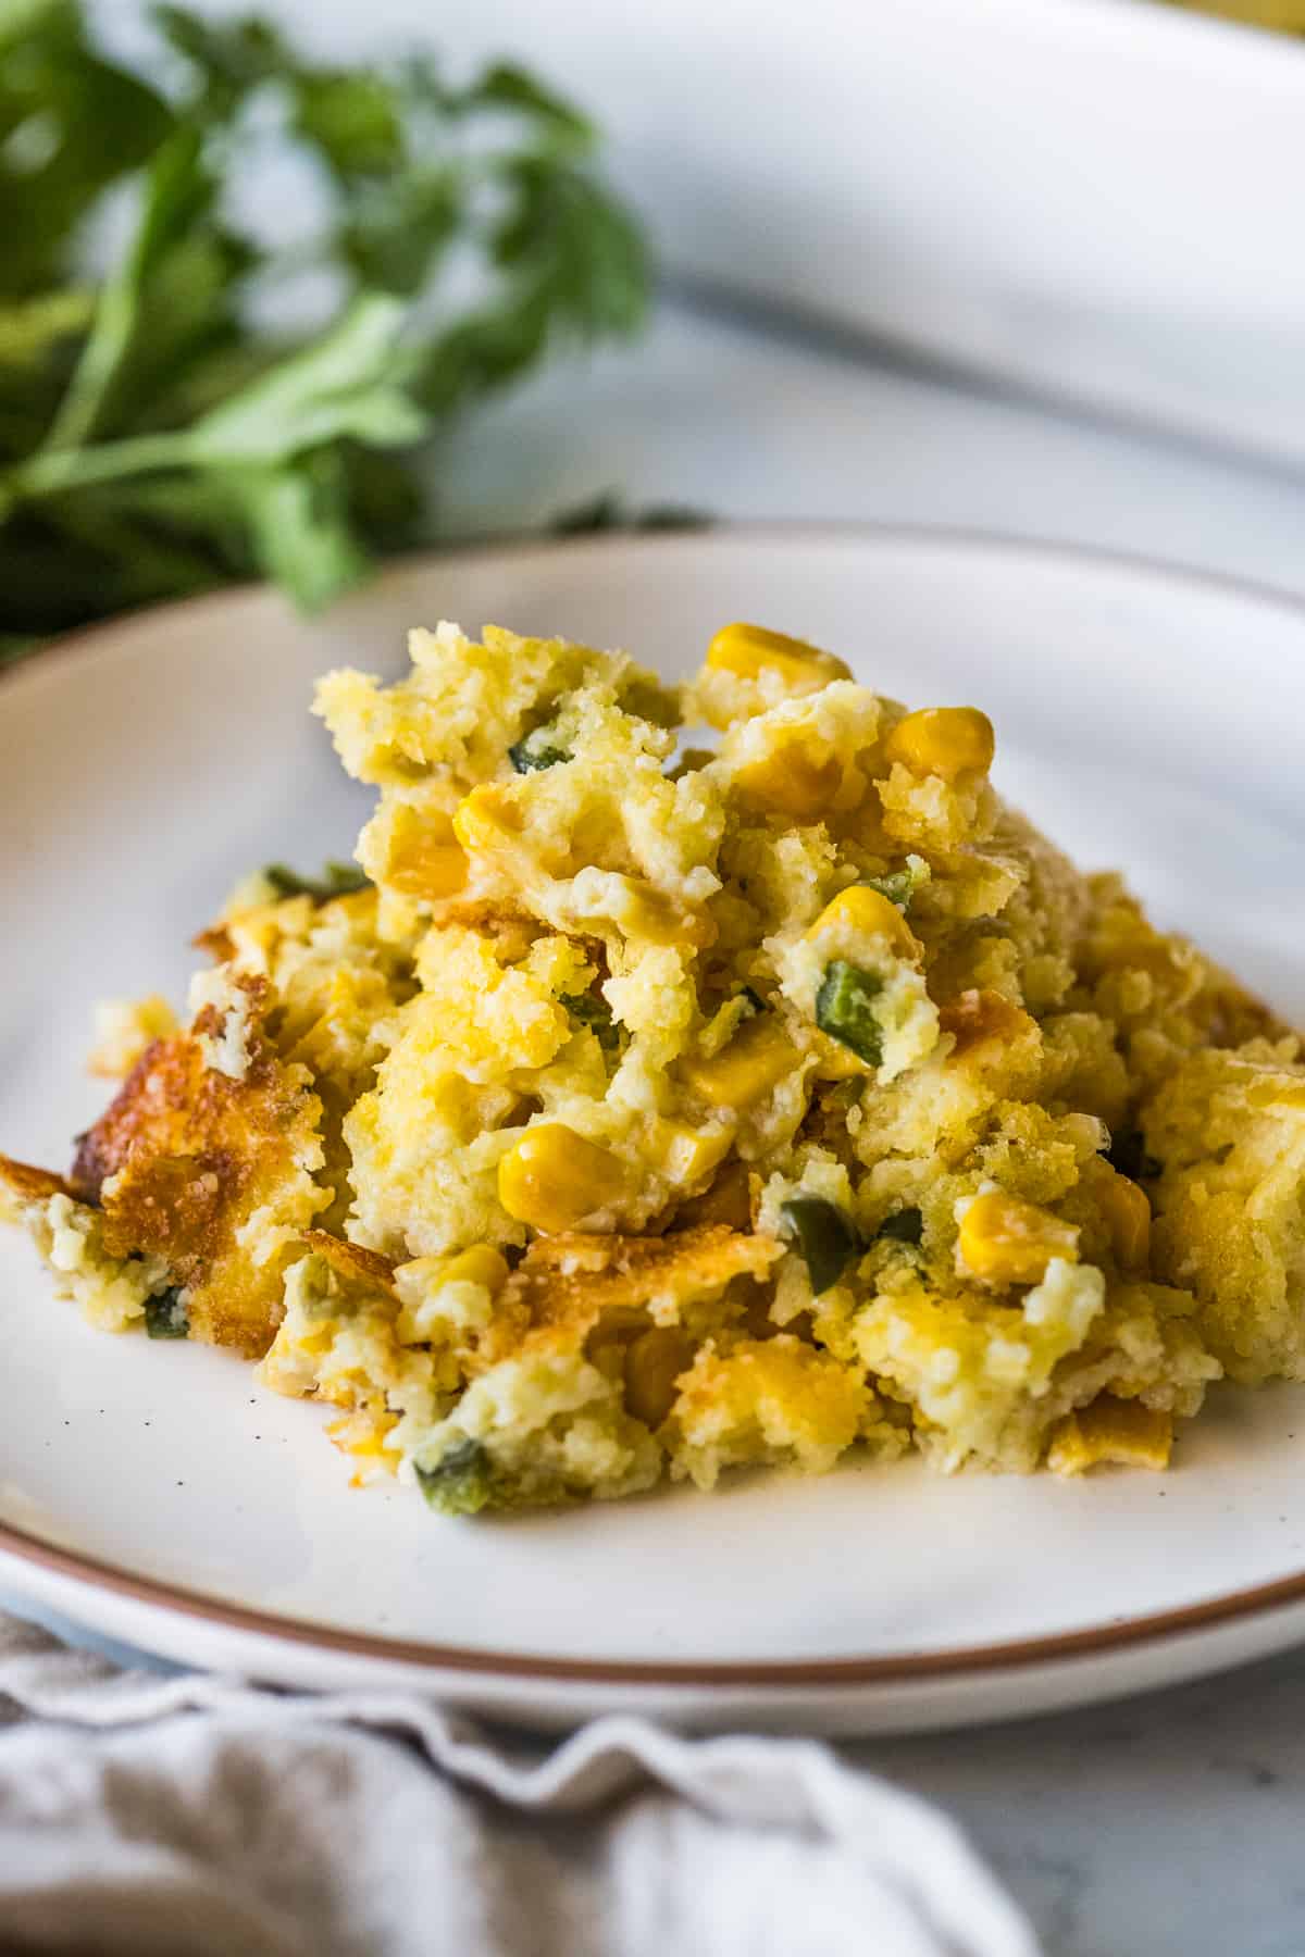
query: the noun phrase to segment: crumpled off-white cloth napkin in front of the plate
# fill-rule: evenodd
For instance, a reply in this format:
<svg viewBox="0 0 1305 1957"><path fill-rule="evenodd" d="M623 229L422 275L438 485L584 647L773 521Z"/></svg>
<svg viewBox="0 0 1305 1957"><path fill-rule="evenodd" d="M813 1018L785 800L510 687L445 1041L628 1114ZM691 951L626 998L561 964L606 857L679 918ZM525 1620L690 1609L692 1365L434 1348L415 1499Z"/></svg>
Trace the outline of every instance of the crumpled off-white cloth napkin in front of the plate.
<svg viewBox="0 0 1305 1957"><path fill-rule="evenodd" d="M160 1677L0 1616L0 1949L1035 1957L957 1828L808 1740Z"/></svg>

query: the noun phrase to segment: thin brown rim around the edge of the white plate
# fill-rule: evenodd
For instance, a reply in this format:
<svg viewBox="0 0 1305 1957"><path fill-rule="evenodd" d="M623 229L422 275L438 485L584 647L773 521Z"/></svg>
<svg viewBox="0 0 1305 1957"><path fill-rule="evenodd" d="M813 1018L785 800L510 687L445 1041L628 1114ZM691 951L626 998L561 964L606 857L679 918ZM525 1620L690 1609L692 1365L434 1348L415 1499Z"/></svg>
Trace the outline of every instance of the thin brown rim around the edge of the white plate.
<svg viewBox="0 0 1305 1957"><path fill-rule="evenodd" d="M536 532L503 532L458 540L450 546L421 548L383 560L378 579L391 571L417 569L425 564L485 556L583 556L612 550L663 552L685 542L695 546L769 542L843 542L849 546L906 548L935 546L943 552L974 556L1033 558L1039 564L1062 564L1068 569L1123 571L1154 583L1170 583L1207 595L1240 599L1256 607L1287 613L1305 626L1305 597L1252 577L1174 564L1143 552L1119 552L1107 546L1064 544L1055 538L1025 538L1013 532L951 524L863 523L863 521L726 521L683 530L610 530L587 536L538 536ZM223 585L166 605L137 607L113 618L61 634L45 646L39 658L18 660L0 671L0 695L47 673L53 661L88 660L112 648L147 620L170 620L194 614L196 609L231 605L260 597L276 599L266 583ZM366 585L358 597L366 597ZM311 1618L260 1611L252 1605L229 1603L207 1591L149 1577L121 1564L102 1562L78 1550L61 1548L25 1528L0 1519L0 1554L20 1566L70 1579L86 1589L108 1591L133 1605L200 1620L219 1630L280 1640L348 1658L380 1660L415 1665L428 1671L464 1677L499 1677L513 1683L552 1681L599 1687L681 1687L681 1689L824 1689L824 1687L888 1687L922 1685L957 1679L967 1673L1006 1673L1033 1665L1064 1665L1074 1660L1103 1658L1127 1650L1143 1650L1174 1638L1211 1632L1225 1624L1254 1622L1305 1603L1305 1568L1233 1591L1221 1591L1197 1603L1141 1616L1113 1618L1080 1630L1049 1632L1035 1638L1004 1638L974 1646L947 1646L937 1652L888 1652L877 1658L826 1660L589 1660L556 1658L538 1652L473 1650L427 1640L387 1638L380 1632L346 1630L319 1624Z"/></svg>

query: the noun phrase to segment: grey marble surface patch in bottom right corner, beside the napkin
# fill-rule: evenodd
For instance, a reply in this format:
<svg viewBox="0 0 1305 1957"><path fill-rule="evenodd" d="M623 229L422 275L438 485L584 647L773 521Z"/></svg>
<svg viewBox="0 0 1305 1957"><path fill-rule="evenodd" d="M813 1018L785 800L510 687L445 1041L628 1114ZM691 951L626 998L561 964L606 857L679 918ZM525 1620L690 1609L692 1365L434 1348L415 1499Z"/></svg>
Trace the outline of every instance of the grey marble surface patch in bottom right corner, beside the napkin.
<svg viewBox="0 0 1305 1957"><path fill-rule="evenodd" d="M968 1830L1047 1957L1305 1951L1305 1654L849 1752Z"/></svg>

